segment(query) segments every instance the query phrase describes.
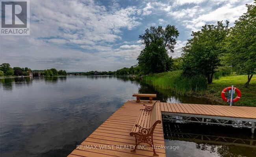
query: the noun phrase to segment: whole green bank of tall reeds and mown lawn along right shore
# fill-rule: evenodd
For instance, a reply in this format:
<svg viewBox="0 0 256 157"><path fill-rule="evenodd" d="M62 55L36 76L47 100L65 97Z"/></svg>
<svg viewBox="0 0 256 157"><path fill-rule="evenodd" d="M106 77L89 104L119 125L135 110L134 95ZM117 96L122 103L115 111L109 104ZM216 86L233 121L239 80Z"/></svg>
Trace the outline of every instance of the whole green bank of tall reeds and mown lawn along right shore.
<svg viewBox="0 0 256 157"><path fill-rule="evenodd" d="M256 76L250 81L249 87L245 87L247 76L219 76L213 79L213 83L206 83L204 76L195 76L191 78L183 77L180 70L172 72L163 72L159 74L150 74L143 79L147 84L156 89L173 90L175 94L186 96L200 96L210 100L217 101L227 105L221 99L221 91L229 86L234 85L242 92L241 99L234 103L236 106L254 106L256 107ZM236 96L236 95L234 95Z"/></svg>

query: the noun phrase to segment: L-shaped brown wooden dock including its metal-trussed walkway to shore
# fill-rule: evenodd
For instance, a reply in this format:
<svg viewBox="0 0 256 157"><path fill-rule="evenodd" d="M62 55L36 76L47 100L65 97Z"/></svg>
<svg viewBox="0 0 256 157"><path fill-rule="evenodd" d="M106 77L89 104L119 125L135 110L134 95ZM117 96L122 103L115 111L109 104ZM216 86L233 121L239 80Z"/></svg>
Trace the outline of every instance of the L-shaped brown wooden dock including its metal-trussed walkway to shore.
<svg viewBox="0 0 256 157"><path fill-rule="evenodd" d="M132 153L131 150L135 146L135 137L130 136L140 109L145 108L143 104L153 105L153 103L148 103L148 100L141 100L140 102L134 100L124 103L77 146L68 157L153 157L152 147L150 146L140 147L136 150L136 153ZM252 133L256 128L256 107L163 102L160 103L160 107L163 120L237 125L229 123L230 120L233 120L241 121L240 127L252 128ZM155 146L161 147L156 149L156 153L160 157L165 157L162 123L157 124L153 140Z"/></svg>

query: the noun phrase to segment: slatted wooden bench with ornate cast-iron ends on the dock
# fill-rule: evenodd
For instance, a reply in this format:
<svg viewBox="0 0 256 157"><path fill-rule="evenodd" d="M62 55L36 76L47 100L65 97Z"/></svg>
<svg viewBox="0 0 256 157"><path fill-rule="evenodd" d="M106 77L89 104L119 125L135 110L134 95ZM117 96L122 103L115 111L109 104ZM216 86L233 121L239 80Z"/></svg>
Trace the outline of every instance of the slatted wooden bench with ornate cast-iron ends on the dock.
<svg viewBox="0 0 256 157"><path fill-rule="evenodd" d="M134 153L140 143L147 143L151 147L154 145L153 132L156 125L161 123L160 102L156 101L152 106L148 106L146 104L144 104L144 106L145 109L140 110L139 116L137 117L134 127L130 133L131 136L135 136L135 148L132 150ZM154 155L158 156L155 149L153 149L153 151Z"/></svg>

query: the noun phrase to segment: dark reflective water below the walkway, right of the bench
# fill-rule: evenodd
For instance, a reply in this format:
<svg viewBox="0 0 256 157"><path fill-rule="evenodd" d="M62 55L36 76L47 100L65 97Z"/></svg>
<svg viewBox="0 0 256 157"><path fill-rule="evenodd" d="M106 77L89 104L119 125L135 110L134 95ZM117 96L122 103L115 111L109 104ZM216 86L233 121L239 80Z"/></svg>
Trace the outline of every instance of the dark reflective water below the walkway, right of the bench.
<svg viewBox="0 0 256 157"><path fill-rule="evenodd" d="M165 145L180 146L167 150L167 156L254 157L256 139L250 129L206 124L163 122ZM186 147L184 147L186 146Z"/></svg>

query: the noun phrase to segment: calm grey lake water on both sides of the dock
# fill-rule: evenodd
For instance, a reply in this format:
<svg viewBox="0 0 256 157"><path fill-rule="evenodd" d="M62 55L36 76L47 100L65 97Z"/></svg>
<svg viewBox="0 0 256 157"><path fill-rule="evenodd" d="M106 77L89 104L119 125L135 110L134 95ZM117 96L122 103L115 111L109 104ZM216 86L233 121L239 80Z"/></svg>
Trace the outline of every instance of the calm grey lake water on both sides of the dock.
<svg viewBox="0 0 256 157"><path fill-rule="evenodd" d="M215 104L156 91L129 77L0 79L0 155L67 156L138 92L156 93L162 102ZM167 157L256 156L256 140L250 139L250 129L170 122L163 126L165 145L180 146L179 150L167 150ZM243 146L230 145L233 139Z"/></svg>

